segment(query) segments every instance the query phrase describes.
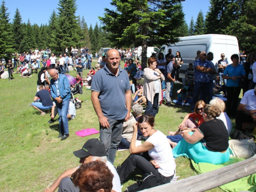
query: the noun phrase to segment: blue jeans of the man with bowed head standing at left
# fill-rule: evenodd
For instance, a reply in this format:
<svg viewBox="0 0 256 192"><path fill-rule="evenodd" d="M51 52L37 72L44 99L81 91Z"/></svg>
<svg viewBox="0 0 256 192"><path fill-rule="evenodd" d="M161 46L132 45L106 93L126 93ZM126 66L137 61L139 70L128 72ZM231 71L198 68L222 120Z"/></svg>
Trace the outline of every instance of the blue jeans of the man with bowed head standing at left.
<svg viewBox="0 0 256 192"><path fill-rule="evenodd" d="M59 114L59 132L62 135L67 135L69 134L69 121L67 117L69 109L69 99L61 103L57 103L55 101L55 103Z"/></svg>

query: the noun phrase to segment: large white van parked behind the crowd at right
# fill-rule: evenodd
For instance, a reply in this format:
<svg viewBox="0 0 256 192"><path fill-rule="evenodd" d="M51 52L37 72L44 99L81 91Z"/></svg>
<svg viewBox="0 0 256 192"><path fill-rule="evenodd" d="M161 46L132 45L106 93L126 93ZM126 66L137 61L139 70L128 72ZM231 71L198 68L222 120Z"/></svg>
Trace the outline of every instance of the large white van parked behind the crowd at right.
<svg viewBox="0 0 256 192"><path fill-rule="evenodd" d="M217 63L221 59L221 54L224 53L227 57L228 63L232 63L230 57L232 54L239 54L239 46L237 37L230 35L207 34L195 35L188 37L179 37L180 41L175 45L163 45L158 52L164 56L168 53L168 49L172 49L172 54L176 56L179 51L183 60L180 69L180 78L185 77L185 71L188 68L188 63L194 63L197 51L205 51L206 53L214 53L213 63ZM218 71L218 70L217 70Z"/></svg>

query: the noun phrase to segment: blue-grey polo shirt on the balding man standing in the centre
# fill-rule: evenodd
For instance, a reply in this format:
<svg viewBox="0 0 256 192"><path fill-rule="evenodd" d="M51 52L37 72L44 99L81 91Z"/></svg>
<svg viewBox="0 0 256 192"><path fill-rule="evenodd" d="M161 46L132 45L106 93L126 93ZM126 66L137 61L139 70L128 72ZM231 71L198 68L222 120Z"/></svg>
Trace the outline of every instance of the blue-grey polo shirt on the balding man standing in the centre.
<svg viewBox="0 0 256 192"><path fill-rule="evenodd" d="M119 68L117 76L110 72L106 64L93 77L91 90L99 92L100 108L105 117L115 120L125 119L125 91L130 90L129 76Z"/></svg>

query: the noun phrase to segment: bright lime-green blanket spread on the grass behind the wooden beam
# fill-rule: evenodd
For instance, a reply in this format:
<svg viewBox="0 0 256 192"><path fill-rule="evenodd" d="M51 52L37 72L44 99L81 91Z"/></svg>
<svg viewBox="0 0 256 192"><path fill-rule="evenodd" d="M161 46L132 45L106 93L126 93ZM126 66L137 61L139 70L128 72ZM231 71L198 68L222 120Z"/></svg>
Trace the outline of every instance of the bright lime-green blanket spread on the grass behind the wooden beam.
<svg viewBox="0 0 256 192"><path fill-rule="evenodd" d="M228 162L219 164L219 165L215 165L211 163L195 163L193 160L191 160L191 163L198 174L203 174L206 172L210 172L211 170L215 170L215 169L218 169L233 163L237 163L243 160L244 159L241 159L241 158L230 158ZM220 188L225 191L232 191L232 192L256 191L256 174L221 185Z"/></svg>

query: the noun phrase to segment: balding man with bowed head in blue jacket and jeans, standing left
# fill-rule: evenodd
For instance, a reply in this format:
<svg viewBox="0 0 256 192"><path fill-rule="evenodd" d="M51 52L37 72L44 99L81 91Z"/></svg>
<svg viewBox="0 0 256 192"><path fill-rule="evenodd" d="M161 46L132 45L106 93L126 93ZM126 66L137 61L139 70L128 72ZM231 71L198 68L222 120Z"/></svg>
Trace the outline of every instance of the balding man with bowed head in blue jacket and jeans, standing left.
<svg viewBox="0 0 256 192"><path fill-rule="evenodd" d="M56 103L56 108L59 114L59 136L60 140L65 140L69 137L69 121L68 109L71 97L69 79L66 75L59 74L56 69L51 69L49 72L52 77L51 96Z"/></svg>

